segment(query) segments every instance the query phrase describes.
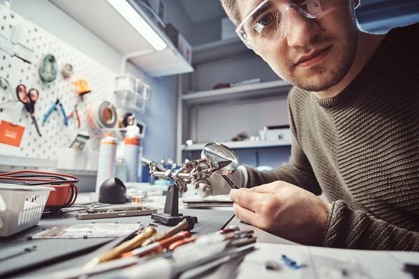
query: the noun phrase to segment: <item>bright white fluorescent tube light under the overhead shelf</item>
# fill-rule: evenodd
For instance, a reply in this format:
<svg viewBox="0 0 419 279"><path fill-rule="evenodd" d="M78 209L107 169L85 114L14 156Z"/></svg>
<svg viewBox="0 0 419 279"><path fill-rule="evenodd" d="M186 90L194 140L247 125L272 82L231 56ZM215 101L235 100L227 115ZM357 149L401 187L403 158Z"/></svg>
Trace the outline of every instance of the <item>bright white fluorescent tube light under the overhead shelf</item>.
<svg viewBox="0 0 419 279"><path fill-rule="evenodd" d="M145 22L136 10L126 0L108 0L108 2L120 13L135 30L140 33L147 42L156 50L164 50L168 45L160 36Z"/></svg>

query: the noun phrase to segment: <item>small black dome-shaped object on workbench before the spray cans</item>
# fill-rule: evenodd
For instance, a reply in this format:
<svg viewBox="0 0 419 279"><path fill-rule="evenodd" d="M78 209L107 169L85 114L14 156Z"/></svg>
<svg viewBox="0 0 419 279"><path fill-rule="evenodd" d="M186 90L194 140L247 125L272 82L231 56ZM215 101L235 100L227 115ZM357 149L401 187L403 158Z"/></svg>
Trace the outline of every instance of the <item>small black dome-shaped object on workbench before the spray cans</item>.
<svg viewBox="0 0 419 279"><path fill-rule="evenodd" d="M99 190L99 202L103 204L125 204L126 187L117 178L106 179Z"/></svg>

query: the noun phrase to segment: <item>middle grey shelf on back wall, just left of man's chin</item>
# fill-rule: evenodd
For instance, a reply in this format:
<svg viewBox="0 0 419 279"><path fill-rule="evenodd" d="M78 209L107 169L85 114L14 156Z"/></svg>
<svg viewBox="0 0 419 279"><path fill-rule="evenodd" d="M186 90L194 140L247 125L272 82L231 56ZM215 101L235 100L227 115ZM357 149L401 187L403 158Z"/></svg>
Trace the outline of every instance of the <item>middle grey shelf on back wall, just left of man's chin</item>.
<svg viewBox="0 0 419 279"><path fill-rule="evenodd" d="M247 84L242 86L230 87L227 89L217 89L200 91L182 95L182 100L186 105L208 105L210 103L221 103L226 100L243 100L250 98L264 98L278 96L290 91L292 85L284 80L274 82L263 82L258 84Z"/></svg>

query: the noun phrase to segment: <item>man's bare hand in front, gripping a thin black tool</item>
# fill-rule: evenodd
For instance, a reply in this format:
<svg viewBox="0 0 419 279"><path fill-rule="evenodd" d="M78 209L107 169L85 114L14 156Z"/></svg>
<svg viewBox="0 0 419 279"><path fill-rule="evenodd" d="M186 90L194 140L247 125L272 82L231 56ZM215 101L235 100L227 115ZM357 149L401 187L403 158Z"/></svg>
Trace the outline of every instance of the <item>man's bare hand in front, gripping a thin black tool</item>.
<svg viewBox="0 0 419 279"><path fill-rule="evenodd" d="M231 190L240 220L297 243L321 246L330 204L284 181Z"/></svg>

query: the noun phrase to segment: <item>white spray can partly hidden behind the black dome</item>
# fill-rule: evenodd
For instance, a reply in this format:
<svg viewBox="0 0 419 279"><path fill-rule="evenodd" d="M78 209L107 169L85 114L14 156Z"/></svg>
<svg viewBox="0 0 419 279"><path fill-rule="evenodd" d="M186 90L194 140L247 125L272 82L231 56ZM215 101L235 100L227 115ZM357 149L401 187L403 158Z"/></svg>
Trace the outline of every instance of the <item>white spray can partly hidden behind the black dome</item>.
<svg viewBox="0 0 419 279"><path fill-rule="evenodd" d="M101 140L101 147L99 149L98 174L96 176L97 195L99 195L103 181L115 177L116 157L117 141L112 133L108 133Z"/></svg>

